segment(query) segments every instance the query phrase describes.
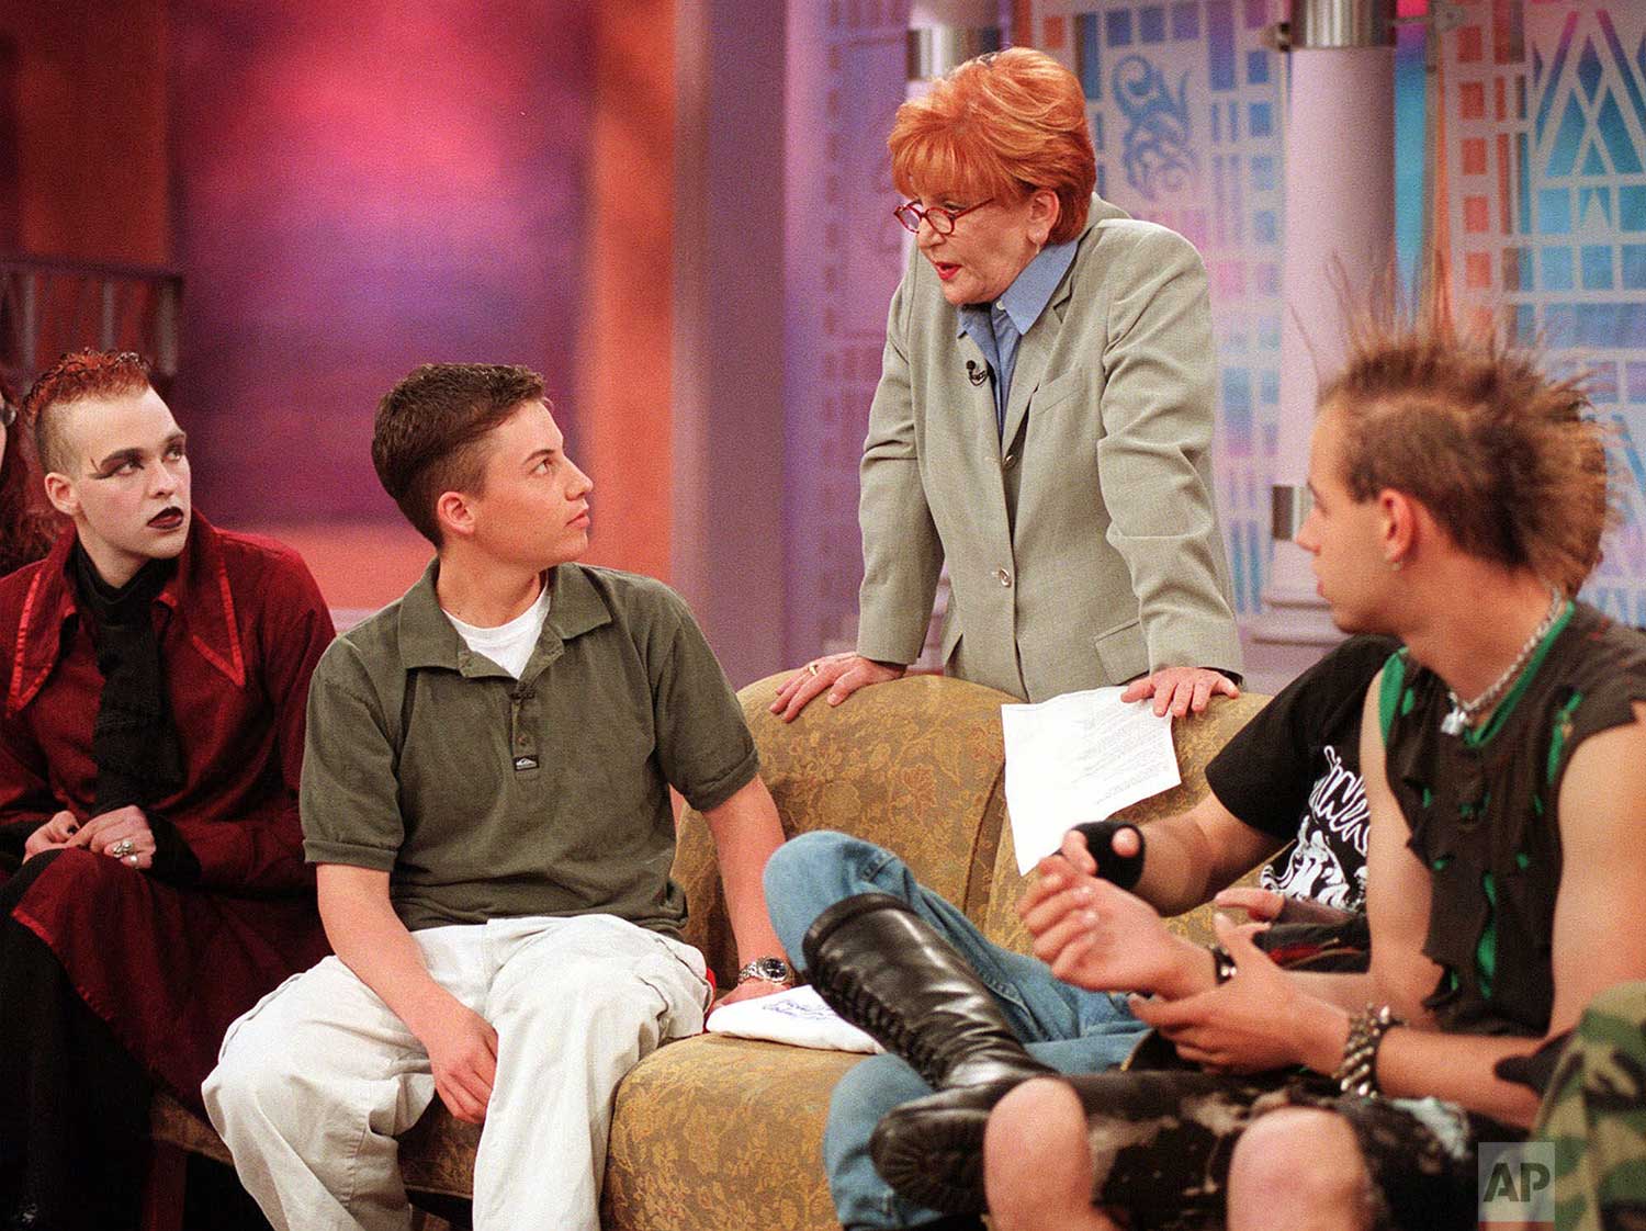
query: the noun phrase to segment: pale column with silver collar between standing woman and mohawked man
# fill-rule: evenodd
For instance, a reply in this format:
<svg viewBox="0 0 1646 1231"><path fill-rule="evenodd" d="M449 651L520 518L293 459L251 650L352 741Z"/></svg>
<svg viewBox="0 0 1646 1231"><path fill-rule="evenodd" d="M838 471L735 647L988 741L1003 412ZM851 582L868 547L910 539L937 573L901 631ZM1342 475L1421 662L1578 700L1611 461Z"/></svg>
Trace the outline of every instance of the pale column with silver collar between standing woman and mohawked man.
<svg viewBox="0 0 1646 1231"><path fill-rule="evenodd" d="M1282 510L1305 507L1290 497L1302 494L1309 477L1320 377L1343 362L1343 309L1369 306L1373 288L1386 288L1394 276L1389 8L1383 0L1294 0L1290 38L1277 532L1292 520ZM1348 290L1348 304L1340 303L1340 288ZM1274 543L1262 601L1262 616L1251 622L1258 642L1318 647L1343 637L1315 592L1309 555L1290 538Z"/></svg>

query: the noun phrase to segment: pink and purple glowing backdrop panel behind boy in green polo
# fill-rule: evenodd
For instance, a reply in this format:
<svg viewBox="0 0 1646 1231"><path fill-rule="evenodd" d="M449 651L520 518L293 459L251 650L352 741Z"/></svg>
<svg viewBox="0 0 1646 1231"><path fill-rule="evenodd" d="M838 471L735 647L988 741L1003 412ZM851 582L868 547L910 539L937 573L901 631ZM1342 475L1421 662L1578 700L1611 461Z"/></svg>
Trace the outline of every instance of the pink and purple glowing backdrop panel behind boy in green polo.
<svg viewBox="0 0 1646 1231"><path fill-rule="evenodd" d="M574 388L591 5L171 13L173 398L199 499L227 522L398 517L367 449L412 365L518 362Z"/></svg>

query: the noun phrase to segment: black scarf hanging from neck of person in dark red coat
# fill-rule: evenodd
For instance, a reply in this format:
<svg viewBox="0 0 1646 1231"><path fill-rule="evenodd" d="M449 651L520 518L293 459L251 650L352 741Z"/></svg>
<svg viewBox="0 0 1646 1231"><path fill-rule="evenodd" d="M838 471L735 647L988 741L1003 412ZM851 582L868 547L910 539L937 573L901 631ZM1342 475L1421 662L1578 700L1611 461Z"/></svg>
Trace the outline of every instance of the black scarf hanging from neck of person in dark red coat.
<svg viewBox="0 0 1646 1231"><path fill-rule="evenodd" d="M183 785L183 749L166 704L155 596L178 569L151 560L123 586L110 586L76 541L69 579L91 617L104 688L92 724L97 800L92 815L135 803L145 808Z"/></svg>

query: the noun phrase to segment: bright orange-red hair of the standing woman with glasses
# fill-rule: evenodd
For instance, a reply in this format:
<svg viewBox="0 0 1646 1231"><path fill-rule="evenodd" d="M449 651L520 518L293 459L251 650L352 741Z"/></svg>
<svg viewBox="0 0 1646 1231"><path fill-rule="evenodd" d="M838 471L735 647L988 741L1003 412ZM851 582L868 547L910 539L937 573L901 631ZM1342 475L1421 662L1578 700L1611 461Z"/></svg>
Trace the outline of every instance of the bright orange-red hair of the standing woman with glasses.
<svg viewBox="0 0 1646 1231"><path fill-rule="evenodd" d="M923 99L897 109L886 143L904 196L1016 201L1049 188L1058 217L1047 240L1063 244L1086 225L1098 181L1086 95L1044 51L1009 48L968 59Z"/></svg>

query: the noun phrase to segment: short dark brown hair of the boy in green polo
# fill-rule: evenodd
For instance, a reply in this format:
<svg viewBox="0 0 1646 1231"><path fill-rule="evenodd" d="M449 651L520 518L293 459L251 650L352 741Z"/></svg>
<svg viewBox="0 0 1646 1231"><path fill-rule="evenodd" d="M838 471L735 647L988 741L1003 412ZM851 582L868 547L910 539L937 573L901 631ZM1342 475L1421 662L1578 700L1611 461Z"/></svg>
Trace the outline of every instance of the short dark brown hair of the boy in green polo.
<svg viewBox="0 0 1646 1231"><path fill-rule="evenodd" d="M436 548L435 502L443 492L479 494L481 441L523 402L546 402L543 377L509 364L423 364L377 403L372 464L384 490Z"/></svg>

